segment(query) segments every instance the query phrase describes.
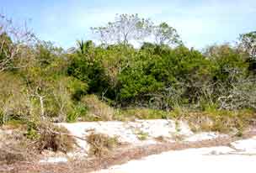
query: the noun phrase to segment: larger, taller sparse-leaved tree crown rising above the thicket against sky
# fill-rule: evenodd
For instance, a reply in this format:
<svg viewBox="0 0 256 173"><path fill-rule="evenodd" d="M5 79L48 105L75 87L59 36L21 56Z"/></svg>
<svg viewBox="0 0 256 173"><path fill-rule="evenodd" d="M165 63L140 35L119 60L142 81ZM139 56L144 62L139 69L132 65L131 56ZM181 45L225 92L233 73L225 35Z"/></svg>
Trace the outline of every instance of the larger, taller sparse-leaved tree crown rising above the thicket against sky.
<svg viewBox="0 0 256 173"><path fill-rule="evenodd" d="M104 27L91 28L99 34L103 44L131 44L131 41L142 40L151 33L152 22L139 18L138 14L116 15L115 22L109 22Z"/></svg>

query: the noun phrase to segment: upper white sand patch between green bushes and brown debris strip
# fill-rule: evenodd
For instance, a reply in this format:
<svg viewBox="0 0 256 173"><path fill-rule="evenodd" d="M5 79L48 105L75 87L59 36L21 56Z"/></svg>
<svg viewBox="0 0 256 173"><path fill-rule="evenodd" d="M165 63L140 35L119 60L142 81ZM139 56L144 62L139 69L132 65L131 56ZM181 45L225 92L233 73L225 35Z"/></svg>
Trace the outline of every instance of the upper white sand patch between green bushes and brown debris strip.
<svg viewBox="0 0 256 173"><path fill-rule="evenodd" d="M70 159L87 157L90 144L82 139L85 139L92 132L117 137L121 144L129 144L132 147L158 144L159 140L157 138L159 137L165 142L173 143L177 141L196 142L225 136L225 134L212 132L195 134L190 130L187 123L172 119L57 123L57 125L64 126L70 134L81 138L77 139L79 148L67 155L48 155L40 160L40 163L67 162ZM141 140L140 135L144 135L145 139Z"/></svg>

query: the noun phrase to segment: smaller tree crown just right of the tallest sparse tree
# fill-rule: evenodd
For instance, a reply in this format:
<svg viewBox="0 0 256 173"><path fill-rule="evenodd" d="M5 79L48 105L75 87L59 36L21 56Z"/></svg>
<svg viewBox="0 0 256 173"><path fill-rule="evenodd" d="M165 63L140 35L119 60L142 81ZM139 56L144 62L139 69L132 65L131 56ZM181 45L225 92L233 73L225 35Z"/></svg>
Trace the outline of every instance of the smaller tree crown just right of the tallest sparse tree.
<svg viewBox="0 0 256 173"><path fill-rule="evenodd" d="M167 23L161 23L152 28L152 34L157 45L181 45L182 41L176 29Z"/></svg>

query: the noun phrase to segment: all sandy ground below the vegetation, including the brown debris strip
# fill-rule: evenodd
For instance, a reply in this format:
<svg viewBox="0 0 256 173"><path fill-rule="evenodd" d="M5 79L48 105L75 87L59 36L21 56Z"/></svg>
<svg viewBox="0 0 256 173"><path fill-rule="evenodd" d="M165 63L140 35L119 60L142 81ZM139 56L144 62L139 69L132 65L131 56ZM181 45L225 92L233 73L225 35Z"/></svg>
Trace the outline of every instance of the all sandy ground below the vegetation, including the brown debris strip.
<svg viewBox="0 0 256 173"><path fill-rule="evenodd" d="M135 122L58 123L79 138L91 132L118 137L128 144L105 158L88 158L89 144L77 139L77 150L64 154L46 154L37 163L0 165L0 172L12 173L141 173L141 172L255 172L256 131L244 139L226 134L193 133L185 122L173 120L136 120ZM0 131L1 132L1 131ZM0 133L1 134L1 133ZM147 134L141 140L140 134ZM179 136L177 140L177 136ZM163 137L158 141L157 137ZM126 148L125 148L126 147ZM51 153L51 152L50 152ZM83 160L73 160L81 159ZM72 161L71 161L72 160ZM102 170L101 170L102 169Z"/></svg>

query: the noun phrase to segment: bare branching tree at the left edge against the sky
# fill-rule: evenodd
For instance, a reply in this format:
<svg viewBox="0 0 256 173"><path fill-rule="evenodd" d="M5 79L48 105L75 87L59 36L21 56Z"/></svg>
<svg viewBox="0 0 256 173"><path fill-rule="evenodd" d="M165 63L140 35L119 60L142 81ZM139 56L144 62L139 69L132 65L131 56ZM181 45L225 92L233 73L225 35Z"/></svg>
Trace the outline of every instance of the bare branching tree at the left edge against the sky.
<svg viewBox="0 0 256 173"><path fill-rule="evenodd" d="M35 40L35 35L28 29L26 22L21 26L13 24L13 20L0 13L0 71L13 66L14 61L22 61L23 48Z"/></svg>

